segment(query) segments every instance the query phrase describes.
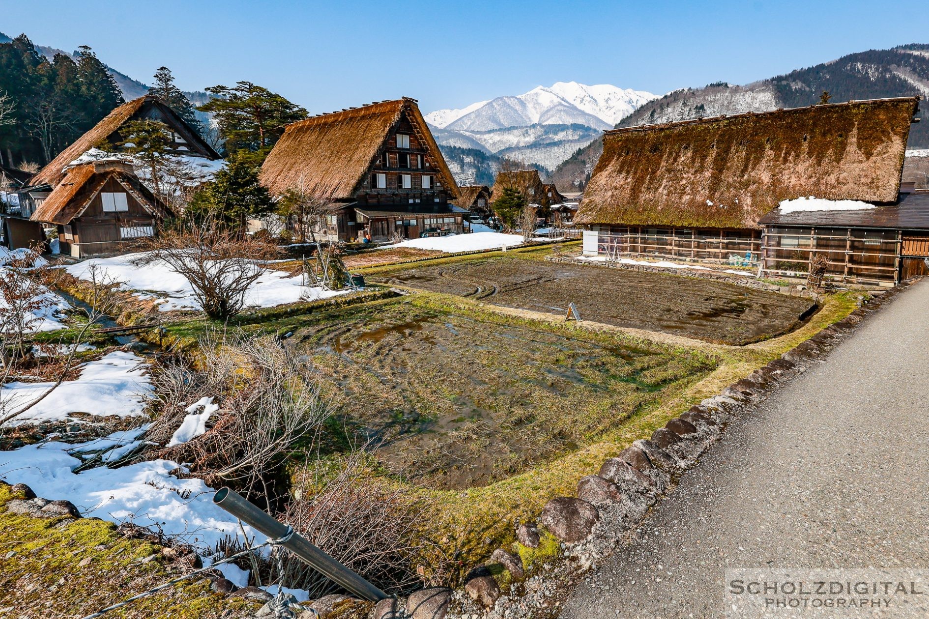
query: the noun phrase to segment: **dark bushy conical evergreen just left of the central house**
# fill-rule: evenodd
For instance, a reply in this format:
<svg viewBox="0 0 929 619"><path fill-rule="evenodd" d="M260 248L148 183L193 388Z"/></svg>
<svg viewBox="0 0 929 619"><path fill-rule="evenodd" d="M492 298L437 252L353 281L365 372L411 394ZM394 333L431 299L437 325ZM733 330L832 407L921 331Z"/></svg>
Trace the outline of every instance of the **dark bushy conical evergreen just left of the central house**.
<svg viewBox="0 0 929 619"><path fill-rule="evenodd" d="M207 216L229 227L244 229L249 219L274 211L268 189L258 182L259 156L240 151L229 157L229 164L206 183L190 200L188 213L195 218Z"/></svg>

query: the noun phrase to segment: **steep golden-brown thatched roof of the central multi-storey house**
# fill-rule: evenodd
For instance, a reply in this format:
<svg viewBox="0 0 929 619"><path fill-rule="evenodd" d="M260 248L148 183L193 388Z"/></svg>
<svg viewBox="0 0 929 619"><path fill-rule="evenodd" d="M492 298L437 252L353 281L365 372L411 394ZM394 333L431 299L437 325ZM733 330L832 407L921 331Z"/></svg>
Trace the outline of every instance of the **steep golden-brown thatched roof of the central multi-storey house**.
<svg viewBox="0 0 929 619"><path fill-rule="evenodd" d="M261 181L275 195L300 188L326 200L349 199L404 115L430 153L443 186L457 195L455 179L416 100L408 97L287 125L261 167Z"/></svg>

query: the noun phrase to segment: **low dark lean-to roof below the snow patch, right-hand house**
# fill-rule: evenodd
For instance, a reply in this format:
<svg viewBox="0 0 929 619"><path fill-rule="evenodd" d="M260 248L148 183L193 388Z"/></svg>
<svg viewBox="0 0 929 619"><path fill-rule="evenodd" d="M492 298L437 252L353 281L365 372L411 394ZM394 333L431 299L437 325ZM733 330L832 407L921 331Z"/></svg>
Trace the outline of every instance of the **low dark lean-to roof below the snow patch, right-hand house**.
<svg viewBox="0 0 929 619"><path fill-rule="evenodd" d="M761 218L765 226L870 227L929 230L929 191L904 194L896 204L857 211L794 211L775 209Z"/></svg>

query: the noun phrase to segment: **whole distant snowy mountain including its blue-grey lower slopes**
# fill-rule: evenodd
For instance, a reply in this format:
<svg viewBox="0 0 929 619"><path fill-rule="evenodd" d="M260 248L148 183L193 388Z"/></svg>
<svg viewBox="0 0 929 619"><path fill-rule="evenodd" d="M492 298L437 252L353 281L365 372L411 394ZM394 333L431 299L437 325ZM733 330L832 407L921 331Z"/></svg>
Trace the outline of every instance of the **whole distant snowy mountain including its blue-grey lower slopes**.
<svg viewBox="0 0 929 619"><path fill-rule="evenodd" d="M610 84L557 82L519 96L496 97L457 110L425 115L439 146L553 169L655 95Z"/></svg>

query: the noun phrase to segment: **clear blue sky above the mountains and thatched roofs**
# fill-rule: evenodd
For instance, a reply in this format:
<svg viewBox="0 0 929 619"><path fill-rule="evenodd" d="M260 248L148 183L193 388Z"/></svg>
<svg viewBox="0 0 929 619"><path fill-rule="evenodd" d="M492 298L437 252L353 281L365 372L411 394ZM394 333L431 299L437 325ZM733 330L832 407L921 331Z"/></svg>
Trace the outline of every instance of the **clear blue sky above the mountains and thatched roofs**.
<svg viewBox="0 0 929 619"><path fill-rule="evenodd" d="M424 111L558 81L664 94L929 43L927 0L0 0L0 32L90 45L150 83L255 82L310 113L400 96Z"/></svg>

